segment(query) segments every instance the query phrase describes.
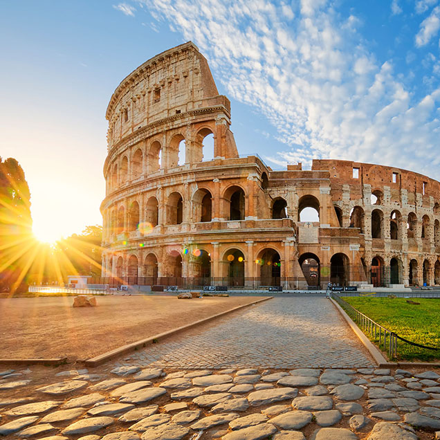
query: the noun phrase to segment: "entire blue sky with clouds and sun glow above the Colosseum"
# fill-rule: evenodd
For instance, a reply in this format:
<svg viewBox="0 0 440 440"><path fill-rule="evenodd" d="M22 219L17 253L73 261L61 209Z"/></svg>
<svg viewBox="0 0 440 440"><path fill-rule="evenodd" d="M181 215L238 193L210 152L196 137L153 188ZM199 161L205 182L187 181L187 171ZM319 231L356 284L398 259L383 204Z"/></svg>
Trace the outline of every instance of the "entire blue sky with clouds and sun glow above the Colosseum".
<svg viewBox="0 0 440 440"><path fill-rule="evenodd" d="M101 223L105 109L120 80L192 40L232 102L240 154L343 158L440 178L440 1L7 1L0 156L35 228Z"/></svg>

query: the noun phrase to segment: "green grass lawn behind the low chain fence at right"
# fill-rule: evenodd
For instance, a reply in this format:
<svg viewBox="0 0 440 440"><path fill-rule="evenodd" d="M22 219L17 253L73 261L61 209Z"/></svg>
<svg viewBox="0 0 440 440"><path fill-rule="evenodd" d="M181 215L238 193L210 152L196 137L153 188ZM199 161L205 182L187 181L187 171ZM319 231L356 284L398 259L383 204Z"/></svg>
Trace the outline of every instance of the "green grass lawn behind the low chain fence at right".
<svg viewBox="0 0 440 440"><path fill-rule="evenodd" d="M405 298L344 297L343 299L402 338L421 345L440 347L440 299L410 298L420 305L408 304ZM421 349L398 340L397 358L439 360L440 350Z"/></svg>

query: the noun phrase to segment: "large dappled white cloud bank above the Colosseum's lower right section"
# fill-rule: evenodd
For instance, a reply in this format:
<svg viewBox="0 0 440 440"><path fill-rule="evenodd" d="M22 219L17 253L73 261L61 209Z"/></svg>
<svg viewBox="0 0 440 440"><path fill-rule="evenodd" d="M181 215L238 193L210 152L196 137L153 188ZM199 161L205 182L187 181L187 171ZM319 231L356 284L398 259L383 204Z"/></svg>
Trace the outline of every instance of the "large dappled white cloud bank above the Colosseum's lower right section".
<svg viewBox="0 0 440 440"><path fill-rule="evenodd" d="M199 46L230 97L275 127L286 148L260 153L267 160L343 158L439 175L440 92L414 99L392 62L363 46L356 17L341 22L323 0L303 0L288 24L269 0L143 1Z"/></svg>

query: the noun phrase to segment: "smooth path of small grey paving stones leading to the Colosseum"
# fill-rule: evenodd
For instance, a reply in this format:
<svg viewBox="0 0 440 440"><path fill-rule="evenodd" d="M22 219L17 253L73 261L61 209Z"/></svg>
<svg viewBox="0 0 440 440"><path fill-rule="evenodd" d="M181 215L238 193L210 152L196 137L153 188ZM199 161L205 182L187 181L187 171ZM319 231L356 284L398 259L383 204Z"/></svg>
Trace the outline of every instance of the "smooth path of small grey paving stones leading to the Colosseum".
<svg viewBox="0 0 440 440"><path fill-rule="evenodd" d="M149 345L120 360L120 365L351 368L374 363L329 300L313 295L250 306Z"/></svg>

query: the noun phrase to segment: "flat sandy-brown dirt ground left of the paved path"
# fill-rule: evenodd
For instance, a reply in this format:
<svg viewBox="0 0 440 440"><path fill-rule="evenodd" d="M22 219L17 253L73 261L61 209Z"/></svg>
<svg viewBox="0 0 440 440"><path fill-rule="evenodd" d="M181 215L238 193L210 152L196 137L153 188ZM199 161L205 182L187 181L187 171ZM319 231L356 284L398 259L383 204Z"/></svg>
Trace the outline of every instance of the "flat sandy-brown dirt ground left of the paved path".
<svg viewBox="0 0 440 440"><path fill-rule="evenodd" d="M0 359L85 360L256 299L98 296L73 308L73 297L0 298Z"/></svg>

